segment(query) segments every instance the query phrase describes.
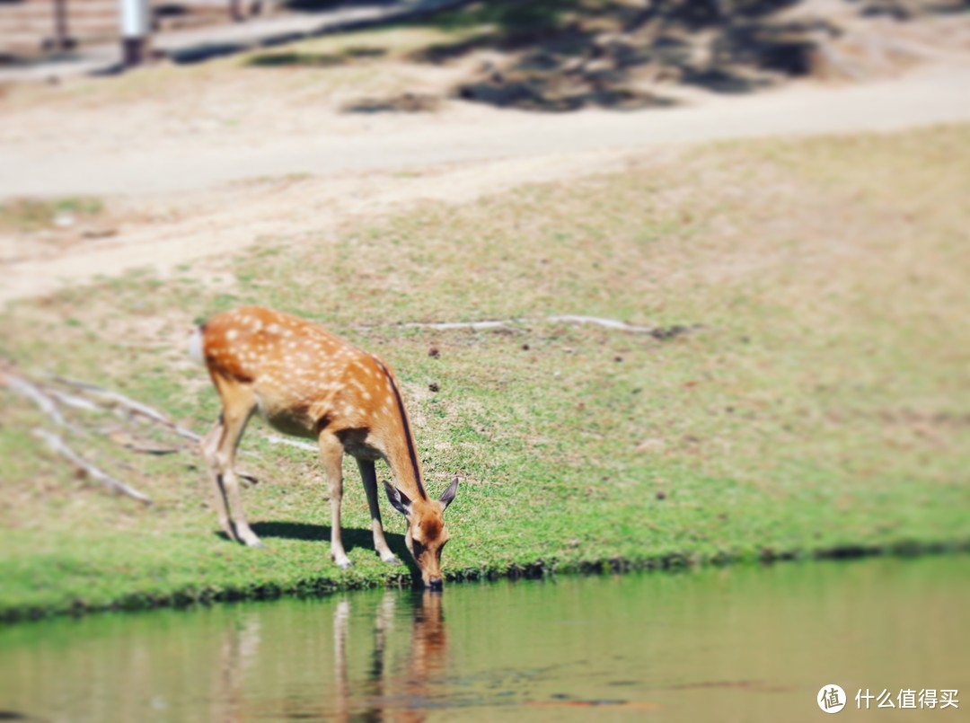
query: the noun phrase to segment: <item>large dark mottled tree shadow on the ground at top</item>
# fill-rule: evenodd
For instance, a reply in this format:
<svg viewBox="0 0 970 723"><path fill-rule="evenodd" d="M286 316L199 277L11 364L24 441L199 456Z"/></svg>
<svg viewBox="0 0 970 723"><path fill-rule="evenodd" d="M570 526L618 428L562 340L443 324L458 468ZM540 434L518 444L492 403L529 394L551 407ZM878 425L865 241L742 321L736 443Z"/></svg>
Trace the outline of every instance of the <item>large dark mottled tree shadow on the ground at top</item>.
<svg viewBox="0 0 970 723"><path fill-rule="evenodd" d="M805 75L810 34L779 22L797 0L532 0L478 3L456 19L488 29L411 56L433 64L487 57L455 95L534 111L665 107L657 82L749 92L771 73ZM451 14L455 15L455 14ZM435 18L429 18L434 24Z"/></svg>

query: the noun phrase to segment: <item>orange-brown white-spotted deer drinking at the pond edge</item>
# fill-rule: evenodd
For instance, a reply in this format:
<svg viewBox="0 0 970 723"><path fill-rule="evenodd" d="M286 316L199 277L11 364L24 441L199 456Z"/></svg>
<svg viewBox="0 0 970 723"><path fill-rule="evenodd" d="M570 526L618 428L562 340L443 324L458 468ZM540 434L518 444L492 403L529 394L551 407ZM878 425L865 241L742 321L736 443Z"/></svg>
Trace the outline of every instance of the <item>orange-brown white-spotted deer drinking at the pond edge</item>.
<svg viewBox="0 0 970 723"><path fill-rule="evenodd" d="M284 434L318 442L330 488L331 555L340 568L351 565L340 539L341 463L347 453L364 480L377 554L387 563L399 562L380 519L374 462L383 459L395 480L384 482L387 499L407 520L407 549L425 586L441 586L441 548L448 542L443 513L458 492L458 477L438 499L428 496L401 386L385 362L315 324L262 307L213 316L196 329L190 353L209 369L222 401L201 448L227 536L263 546L246 522L235 471L242 432L259 412Z"/></svg>

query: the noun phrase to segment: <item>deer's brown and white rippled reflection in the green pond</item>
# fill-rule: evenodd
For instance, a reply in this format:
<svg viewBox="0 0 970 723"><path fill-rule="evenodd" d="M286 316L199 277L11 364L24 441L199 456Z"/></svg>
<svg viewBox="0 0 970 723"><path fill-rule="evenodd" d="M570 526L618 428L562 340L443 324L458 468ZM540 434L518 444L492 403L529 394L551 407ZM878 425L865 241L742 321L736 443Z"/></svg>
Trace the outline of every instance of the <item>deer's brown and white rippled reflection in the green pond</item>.
<svg viewBox="0 0 970 723"><path fill-rule="evenodd" d="M448 674L441 594L389 590L373 601L321 605L333 610L332 652L329 617L296 643L261 635L265 613L236 618L220 636L210 719L424 720ZM287 695L294 688L304 692Z"/></svg>

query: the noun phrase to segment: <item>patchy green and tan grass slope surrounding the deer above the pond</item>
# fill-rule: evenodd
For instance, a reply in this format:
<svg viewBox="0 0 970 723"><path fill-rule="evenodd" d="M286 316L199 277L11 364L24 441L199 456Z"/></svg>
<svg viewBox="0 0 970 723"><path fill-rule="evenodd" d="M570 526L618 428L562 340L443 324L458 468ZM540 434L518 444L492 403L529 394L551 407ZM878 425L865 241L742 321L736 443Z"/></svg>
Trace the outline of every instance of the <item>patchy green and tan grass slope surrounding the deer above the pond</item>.
<svg viewBox="0 0 970 723"><path fill-rule="evenodd" d="M533 185L280 238L207 289L133 274L2 317L0 355L102 383L203 431L194 319L260 303L326 324L397 369L452 579L955 548L970 541L970 127L739 142L621 174ZM581 313L696 325L660 341L548 323ZM510 332L398 322L529 317ZM429 354L434 346L439 354ZM429 387L435 383L437 392ZM139 607L404 583L370 549L352 465L329 561L312 454L257 422L241 466L268 549L220 539L200 460L72 442L155 505L108 495L42 450L3 394L0 614ZM94 429L111 414L72 418ZM142 437L172 438L130 423ZM385 473L386 477L386 473ZM403 520L384 506L403 550Z"/></svg>

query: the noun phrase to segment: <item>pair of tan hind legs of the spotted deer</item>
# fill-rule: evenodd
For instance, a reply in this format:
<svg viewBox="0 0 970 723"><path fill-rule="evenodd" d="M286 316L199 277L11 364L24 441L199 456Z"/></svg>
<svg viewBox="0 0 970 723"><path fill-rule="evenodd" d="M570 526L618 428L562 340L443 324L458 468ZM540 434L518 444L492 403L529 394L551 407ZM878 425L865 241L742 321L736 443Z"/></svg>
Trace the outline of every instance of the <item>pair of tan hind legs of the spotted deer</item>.
<svg viewBox="0 0 970 723"><path fill-rule="evenodd" d="M213 380L222 398L222 415L203 440L203 453L210 465L219 526L237 542L262 547L263 543L246 521L236 474L236 449L249 417L256 410L256 397L248 384L221 377Z"/></svg>

